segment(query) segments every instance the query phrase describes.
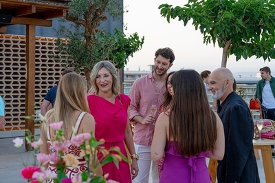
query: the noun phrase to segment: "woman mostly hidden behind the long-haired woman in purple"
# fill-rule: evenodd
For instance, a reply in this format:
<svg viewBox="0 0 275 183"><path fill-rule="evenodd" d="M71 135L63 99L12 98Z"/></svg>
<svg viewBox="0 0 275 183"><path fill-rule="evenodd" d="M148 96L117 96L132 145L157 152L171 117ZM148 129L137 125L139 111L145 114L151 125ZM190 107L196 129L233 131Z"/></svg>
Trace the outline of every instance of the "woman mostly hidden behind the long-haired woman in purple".
<svg viewBox="0 0 275 183"><path fill-rule="evenodd" d="M167 74L166 91L164 92L164 95L163 95L162 104L159 107L159 114L161 114L163 111L168 110L169 107L170 107L170 103L171 103L172 97L173 97L173 92L172 92L172 87L171 87L171 84L170 84L170 80L171 80L174 73L175 73L175 71L170 72L169 74ZM165 153L164 153L164 157L165 157ZM164 161L164 157L157 161L157 169L159 170L159 177L161 176L161 173L162 173L162 164L163 164L163 161Z"/></svg>

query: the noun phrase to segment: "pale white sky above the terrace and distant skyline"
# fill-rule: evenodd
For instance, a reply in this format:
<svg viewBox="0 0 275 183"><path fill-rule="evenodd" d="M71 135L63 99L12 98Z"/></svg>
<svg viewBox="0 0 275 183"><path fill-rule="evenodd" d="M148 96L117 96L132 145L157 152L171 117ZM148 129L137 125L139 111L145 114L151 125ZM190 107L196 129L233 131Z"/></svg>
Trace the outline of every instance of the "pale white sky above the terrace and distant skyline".
<svg viewBox="0 0 275 183"><path fill-rule="evenodd" d="M129 63L125 68L129 70L148 70L148 65L153 64L155 51L159 48L170 47L175 53L175 61L170 71L184 69L195 69L197 72L203 70L214 70L221 67L222 48L218 45L203 44L203 34L195 30L192 19L186 27L182 21L161 17L158 6L168 3L173 6L181 6L188 0L124 0L124 24L127 29L125 34L137 32L144 36L142 50L129 57ZM217 44L217 43L216 43ZM228 58L227 66L233 74L239 72L250 72L256 77L261 67L268 66L275 71L275 60L264 62L263 58L243 58L236 62L234 55ZM273 72L274 73L274 72ZM253 77L254 77L253 76Z"/></svg>

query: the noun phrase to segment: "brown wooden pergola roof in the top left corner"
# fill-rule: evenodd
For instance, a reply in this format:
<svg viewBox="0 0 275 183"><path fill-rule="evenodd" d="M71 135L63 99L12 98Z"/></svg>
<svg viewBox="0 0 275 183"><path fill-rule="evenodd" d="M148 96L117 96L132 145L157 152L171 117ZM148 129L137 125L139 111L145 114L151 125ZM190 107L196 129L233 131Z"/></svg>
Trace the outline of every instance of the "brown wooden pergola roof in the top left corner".
<svg viewBox="0 0 275 183"><path fill-rule="evenodd" d="M14 24L50 27L52 21L47 19L63 17L69 1L0 0L0 15L12 15L10 23L0 21L0 28Z"/></svg>

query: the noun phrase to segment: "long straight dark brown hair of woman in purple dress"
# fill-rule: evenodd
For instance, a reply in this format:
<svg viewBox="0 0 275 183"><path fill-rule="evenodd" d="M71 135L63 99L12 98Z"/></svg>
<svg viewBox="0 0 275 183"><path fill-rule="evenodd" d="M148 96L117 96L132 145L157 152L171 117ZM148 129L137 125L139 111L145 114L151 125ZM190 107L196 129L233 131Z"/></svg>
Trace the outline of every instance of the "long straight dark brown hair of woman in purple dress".
<svg viewBox="0 0 275 183"><path fill-rule="evenodd" d="M170 106L169 132L174 149L186 156L214 148L217 119L210 109L199 73L192 69L175 72L170 83L174 96Z"/></svg>

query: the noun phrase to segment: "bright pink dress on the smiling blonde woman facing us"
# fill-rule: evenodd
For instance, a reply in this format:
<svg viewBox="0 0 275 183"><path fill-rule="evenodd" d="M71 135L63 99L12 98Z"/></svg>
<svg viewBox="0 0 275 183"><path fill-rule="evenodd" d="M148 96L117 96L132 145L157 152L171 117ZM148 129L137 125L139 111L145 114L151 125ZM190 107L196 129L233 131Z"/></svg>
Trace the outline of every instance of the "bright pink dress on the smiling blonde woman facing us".
<svg viewBox="0 0 275 183"><path fill-rule="evenodd" d="M124 138L130 98L124 94L120 94L120 98L117 96L115 104L113 104L94 94L87 96L91 115L96 121L96 139L103 138L105 140L105 149L120 147L120 151L127 157ZM99 155L99 159L101 157L102 155ZM102 166L102 169L104 173L109 173L107 180L115 180L120 183L132 182L128 162L122 160L119 163L119 169L113 162L110 162Z"/></svg>

